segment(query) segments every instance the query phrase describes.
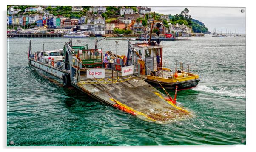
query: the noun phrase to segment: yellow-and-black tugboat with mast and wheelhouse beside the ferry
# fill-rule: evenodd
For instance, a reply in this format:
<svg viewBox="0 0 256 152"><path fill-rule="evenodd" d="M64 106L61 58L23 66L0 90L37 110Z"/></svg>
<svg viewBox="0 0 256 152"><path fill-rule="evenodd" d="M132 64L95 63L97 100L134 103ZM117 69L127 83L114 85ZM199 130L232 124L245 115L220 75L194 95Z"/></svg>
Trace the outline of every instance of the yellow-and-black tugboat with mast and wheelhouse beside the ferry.
<svg viewBox="0 0 256 152"><path fill-rule="evenodd" d="M186 90L196 87L200 81L199 76L196 74L196 65L176 63L176 68L174 70L169 68L168 61L165 61L163 64L163 45L160 45L160 39L157 39L156 42L151 41L153 25L154 19L148 42L144 41L143 43L135 44L129 42L128 46L130 49L134 49L137 54L142 78L149 84L170 90L174 90L176 87L178 87L178 90ZM156 26L157 28L160 28L161 24L157 23ZM159 36L159 31L156 34ZM131 51L129 51L129 49L127 56L128 58L131 56ZM128 59L127 62L129 64L130 60ZM167 64L167 67L165 63Z"/></svg>

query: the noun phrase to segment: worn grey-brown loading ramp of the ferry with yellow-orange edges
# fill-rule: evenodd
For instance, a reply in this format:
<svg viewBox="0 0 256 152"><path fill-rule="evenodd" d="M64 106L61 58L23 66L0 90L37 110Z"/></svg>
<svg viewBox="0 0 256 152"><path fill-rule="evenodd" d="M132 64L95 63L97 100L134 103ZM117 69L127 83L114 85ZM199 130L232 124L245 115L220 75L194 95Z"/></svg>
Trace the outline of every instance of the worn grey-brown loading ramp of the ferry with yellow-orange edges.
<svg viewBox="0 0 256 152"><path fill-rule="evenodd" d="M110 70L106 70L105 76L111 75ZM113 72L114 73L114 72ZM115 75L115 73L114 73ZM121 79L122 77L122 79ZM119 81L121 79L121 81ZM107 90L117 104L103 90L101 85ZM159 123L168 123L176 120L182 120L191 116L190 112L166 101L166 96L145 82L141 77L118 76L117 78L104 78L97 81L86 80L81 74L80 81L75 84L83 92L93 98L108 103L125 112L137 115L146 121L156 121Z"/></svg>

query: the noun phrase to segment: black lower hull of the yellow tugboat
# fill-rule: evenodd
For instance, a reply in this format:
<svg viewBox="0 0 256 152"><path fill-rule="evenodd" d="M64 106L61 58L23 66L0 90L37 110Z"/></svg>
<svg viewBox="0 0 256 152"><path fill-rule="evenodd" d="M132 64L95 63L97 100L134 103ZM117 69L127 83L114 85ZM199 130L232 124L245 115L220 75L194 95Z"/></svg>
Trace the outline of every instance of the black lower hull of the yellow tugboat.
<svg viewBox="0 0 256 152"><path fill-rule="evenodd" d="M144 78L144 80L146 82L148 82L149 84L153 85L154 87L161 88L161 86L159 85L159 83L156 80L145 79L145 78ZM178 91L180 91L180 90L188 90L188 89L191 89L193 87L196 87L198 85L199 81L200 81L200 79L193 79L193 80L187 80L187 81L182 81L182 82L174 82L174 83L162 82L162 81L159 81L159 82L162 84L162 86L165 89L175 90L175 87L178 86Z"/></svg>

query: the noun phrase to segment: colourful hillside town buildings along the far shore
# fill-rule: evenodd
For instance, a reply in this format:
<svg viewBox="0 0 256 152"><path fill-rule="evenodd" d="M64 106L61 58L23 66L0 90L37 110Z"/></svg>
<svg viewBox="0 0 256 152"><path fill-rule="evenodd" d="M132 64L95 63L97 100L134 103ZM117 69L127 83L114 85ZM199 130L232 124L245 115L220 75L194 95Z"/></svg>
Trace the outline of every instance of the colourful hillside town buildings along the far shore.
<svg viewBox="0 0 256 152"><path fill-rule="evenodd" d="M113 34L134 35L145 34L151 30L154 13L145 6L118 7L115 14L105 13L105 6L91 6L84 10L82 6L72 6L71 13L81 12L80 18L53 15L49 6L28 7L21 12L19 6L10 6L7 10L7 32L20 33L68 33L86 31L90 36L110 36ZM51 9L56 6L51 6ZM114 7L114 6L112 6ZM161 27L156 26L157 23ZM161 34L175 34L175 36L189 37L192 28L184 24L172 24L168 15L158 14L154 21L153 32Z"/></svg>

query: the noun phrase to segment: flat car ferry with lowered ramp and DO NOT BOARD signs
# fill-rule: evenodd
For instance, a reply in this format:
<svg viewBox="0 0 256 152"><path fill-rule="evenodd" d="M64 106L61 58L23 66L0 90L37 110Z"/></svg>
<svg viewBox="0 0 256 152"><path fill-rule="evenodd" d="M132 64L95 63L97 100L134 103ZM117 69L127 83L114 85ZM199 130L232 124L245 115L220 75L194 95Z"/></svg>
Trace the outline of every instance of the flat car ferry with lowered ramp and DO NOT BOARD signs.
<svg viewBox="0 0 256 152"><path fill-rule="evenodd" d="M43 76L145 121L168 123L191 118L193 114L176 102L176 95L165 95L140 77L136 51L130 48L129 52L128 64L115 59L117 69L104 68L100 48L88 49L88 45L72 46L68 42L61 50L32 53L30 41L28 61Z"/></svg>

